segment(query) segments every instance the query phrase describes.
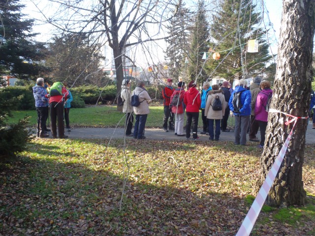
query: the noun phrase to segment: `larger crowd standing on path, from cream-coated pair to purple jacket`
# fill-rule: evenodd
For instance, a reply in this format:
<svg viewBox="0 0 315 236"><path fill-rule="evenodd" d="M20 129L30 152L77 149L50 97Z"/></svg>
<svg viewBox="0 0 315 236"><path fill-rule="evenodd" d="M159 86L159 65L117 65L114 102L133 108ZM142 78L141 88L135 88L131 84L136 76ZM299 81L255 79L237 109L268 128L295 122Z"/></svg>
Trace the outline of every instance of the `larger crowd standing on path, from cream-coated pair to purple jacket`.
<svg viewBox="0 0 315 236"><path fill-rule="evenodd" d="M236 145L246 145L246 136L249 132L250 141L260 142L258 146L260 148L264 146L268 120L268 112L265 107L269 94L272 94L269 81L262 81L260 77L255 77L251 90L247 88L247 82L244 79L239 81L235 90L231 89L227 81L224 81L221 86L213 85L212 87L209 82L205 82L201 93L196 89L194 81L189 83L187 90L185 90L186 85L183 81L177 84L176 89L172 87L172 84L172 79L168 79L165 88L162 89L163 130L165 132L174 130L175 135L186 136L186 139L190 139L192 131L192 139L198 140L197 128L199 111L201 110L203 130L200 134L209 133L209 140L219 141L221 131L230 131L227 129L227 120L230 111L232 111L235 117L234 143ZM145 139L145 123L150 113L149 103L152 99L144 87L144 82L139 81L137 87L131 92L130 81L124 80L121 90L122 99L127 101L123 107L123 112L126 113L126 136L133 136L135 139ZM235 93L240 94L241 107L238 110L235 109L235 103L233 103ZM140 105L138 107L130 105L133 94L139 97ZM218 100L220 100L221 109L216 110L213 106ZM133 133L131 133L133 125L132 112L136 115ZM184 126L185 114L187 122ZM260 129L260 140L256 137L258 129Z"/></svg>

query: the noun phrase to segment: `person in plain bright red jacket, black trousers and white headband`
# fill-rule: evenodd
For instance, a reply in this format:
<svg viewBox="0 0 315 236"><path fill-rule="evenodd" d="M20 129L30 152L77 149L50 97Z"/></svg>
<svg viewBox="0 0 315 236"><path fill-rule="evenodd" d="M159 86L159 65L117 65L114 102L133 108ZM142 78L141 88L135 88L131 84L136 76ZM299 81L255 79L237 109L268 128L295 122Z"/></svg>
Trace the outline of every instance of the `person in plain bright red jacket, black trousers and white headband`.
<svg viewBox="0 0 315 236"><path fill-rule="evenodd" d="M201 105L200 92L196 89L194 81L190 81L188 91L185 93L184 103L186 106L186 139L190 138L190 127L192 122L192 139L197 140L199 108Z"/></svg>

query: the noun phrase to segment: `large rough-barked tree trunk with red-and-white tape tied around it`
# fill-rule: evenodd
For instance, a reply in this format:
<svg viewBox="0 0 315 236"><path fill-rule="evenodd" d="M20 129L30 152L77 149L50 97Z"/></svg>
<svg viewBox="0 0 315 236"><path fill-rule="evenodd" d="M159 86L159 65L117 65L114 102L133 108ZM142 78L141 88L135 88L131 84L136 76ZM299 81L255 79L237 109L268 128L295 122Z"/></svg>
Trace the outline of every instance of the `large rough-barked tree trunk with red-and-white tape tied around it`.
<svg viewBox="0 0 315 236"><path fill-rule="evenodd" d="M271 108L306 117L311 91L311 63L315 28L314 0L285 0L278 48L277 72ZM284 124L280 113L269 113L265 148L260 159L256 193L271 169L292 124ZM268 194L271 206L304 205L302 166L304 162L306 119L298 119L280 171Z"/></svg>

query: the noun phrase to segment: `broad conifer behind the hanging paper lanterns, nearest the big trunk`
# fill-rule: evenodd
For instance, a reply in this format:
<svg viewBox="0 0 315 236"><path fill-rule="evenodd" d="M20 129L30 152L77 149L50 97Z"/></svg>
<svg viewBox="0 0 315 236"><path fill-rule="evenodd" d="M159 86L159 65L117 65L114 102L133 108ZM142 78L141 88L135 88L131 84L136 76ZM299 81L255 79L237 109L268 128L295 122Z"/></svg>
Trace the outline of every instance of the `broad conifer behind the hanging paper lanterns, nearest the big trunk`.
<svg viewBox="0 0 315 236"><path fill-rule="evenodd" d="M243 0L239 20L240 1L224 0L219 7L220 10L213 16L210 31L211 46L215 52L220 52L221 58L214 60L210 55L206 65L207 71L231 83L234 79L261 74L271 56L268 55L266 30L261 28L261 13L256 5L251 0ZM258 53L247 53L247 43L250 39L258 40Z"/></svg>

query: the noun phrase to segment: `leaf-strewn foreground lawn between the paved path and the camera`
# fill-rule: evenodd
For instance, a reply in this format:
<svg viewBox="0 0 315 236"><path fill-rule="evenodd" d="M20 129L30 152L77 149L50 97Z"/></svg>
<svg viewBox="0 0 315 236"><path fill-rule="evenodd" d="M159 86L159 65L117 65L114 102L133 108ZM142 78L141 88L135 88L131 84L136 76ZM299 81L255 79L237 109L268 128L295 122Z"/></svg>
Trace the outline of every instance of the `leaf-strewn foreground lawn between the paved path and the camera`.
<svg viewBox="0 0 315 236"><path fill-rule="evenodd" d="M265 207L252 235L315 235L314 153L306 146L308 204ZM34 139L0 165L0 235L234 236L260 154L229 142Z"/></svg>

